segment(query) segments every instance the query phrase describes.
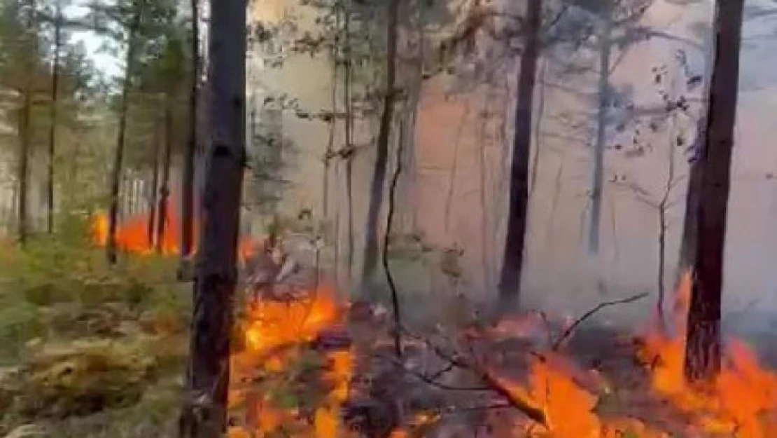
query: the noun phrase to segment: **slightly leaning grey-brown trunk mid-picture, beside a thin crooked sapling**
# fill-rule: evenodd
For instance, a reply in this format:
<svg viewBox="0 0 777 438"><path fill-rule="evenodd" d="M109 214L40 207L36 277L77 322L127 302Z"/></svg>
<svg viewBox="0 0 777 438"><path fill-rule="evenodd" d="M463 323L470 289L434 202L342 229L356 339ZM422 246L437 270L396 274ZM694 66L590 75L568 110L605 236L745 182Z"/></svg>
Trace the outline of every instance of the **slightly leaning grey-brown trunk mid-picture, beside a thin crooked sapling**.
<svg viewBox="0 0 777 438"><path fill-rule="evenodd" d="M386 179L386 167L389 161L389 139L391 125L394 120L395 76L396 76L396 40L397 21L399 19L399 0L390 0L388 4L388 19L386 22L386 79L384 86L383 113L378 130L377 151L375 152L375 169L372 173L370 186L370 205L367 213L367 230L365 230L364 265L362 266L361 282L368 282L378 265L378 219L383 205L383 192Z"/></svg>

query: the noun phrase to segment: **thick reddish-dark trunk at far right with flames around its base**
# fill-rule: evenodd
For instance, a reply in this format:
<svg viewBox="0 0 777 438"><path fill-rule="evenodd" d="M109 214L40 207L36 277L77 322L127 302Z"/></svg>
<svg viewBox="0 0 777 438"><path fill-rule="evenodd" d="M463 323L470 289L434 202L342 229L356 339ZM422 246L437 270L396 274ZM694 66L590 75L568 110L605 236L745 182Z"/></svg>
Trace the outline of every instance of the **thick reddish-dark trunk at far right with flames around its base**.
<svg viewBox="0 0 777 438"><path fill-rule="evenodd" d="M709 88L706 140L701 151L702 177L697 212L685 377L704 380L720 370L720 301L723 248L730 186L733 129L744 0L718 0L715 15L715 60Z"/></svg>

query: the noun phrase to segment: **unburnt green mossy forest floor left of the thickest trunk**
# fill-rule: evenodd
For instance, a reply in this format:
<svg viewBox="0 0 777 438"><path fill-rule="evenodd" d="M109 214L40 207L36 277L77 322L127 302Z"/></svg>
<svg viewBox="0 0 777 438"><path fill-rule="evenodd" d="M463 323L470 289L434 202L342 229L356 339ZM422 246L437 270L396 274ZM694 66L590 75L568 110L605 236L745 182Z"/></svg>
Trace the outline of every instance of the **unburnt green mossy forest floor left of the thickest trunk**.
<svg viewBox="0 0 777 438"><path fill-rule="evenodd" d="M51 240L0 258L0 436L173 436L190 313L177 261L108 268Z"/></svg>

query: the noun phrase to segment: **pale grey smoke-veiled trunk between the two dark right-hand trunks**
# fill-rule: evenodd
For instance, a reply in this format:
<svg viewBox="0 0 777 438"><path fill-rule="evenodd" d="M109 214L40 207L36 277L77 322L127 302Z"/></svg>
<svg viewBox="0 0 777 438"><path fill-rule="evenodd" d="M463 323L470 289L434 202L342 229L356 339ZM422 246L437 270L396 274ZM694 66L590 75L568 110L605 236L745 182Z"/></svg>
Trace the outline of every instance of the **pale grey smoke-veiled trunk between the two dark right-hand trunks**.
<svg viewBox="0 0 777 438"><path fill-rule="evenodd" d="M591 223L588 229L588 251L599 252L599 233L601 227L601 201L605 185L605 135L607 134L607 114L610 105L610 55L612 42L612 3L605 5L605 17L601 30L601 53L599 58L599 114L594 145L594 180L591 184Z"/></svg>

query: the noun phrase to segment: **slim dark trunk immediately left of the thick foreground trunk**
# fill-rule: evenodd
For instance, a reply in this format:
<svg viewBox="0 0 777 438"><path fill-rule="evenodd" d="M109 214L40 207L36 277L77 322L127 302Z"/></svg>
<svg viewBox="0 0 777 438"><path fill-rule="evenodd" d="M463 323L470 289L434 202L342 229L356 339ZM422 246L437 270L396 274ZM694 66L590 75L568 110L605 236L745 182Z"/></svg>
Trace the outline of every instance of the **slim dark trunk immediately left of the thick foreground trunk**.
<svg viewBox="0 0 777 438"><path fill-rule="evenodd" d="M200 13L198 0L191 0L191 83L189 91L189 142L183 159L183 190L181 190L181 258L190 258L194 236L194 156L197 154L197 100L200 83ZM183 271L183 270L182 270Z"/></svg>

